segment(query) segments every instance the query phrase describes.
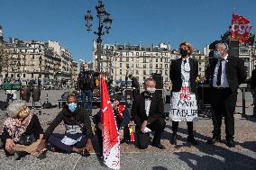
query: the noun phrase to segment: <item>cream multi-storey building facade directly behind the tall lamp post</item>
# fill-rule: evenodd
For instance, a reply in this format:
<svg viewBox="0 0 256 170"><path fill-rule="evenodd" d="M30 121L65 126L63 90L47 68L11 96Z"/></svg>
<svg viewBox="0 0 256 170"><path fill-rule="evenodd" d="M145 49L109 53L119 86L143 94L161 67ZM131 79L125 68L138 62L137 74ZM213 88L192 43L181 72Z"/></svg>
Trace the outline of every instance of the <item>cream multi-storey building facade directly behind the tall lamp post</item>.
<svg viewBox="0 0 256 170"><path fill-rule="evenodd" d="M171 60L180 58L178 50L170 49L169 43L144 46L131 44L104 44L101 53L102 70L115 81L125 81L129 74L136 76L140 84L151 74L161 74L165 89L170 89L169 66ZM205 76L205 55L197 50L193 58L199 61L199 75ZM93 67L97 67L96 42L94 41Z"/></svg>

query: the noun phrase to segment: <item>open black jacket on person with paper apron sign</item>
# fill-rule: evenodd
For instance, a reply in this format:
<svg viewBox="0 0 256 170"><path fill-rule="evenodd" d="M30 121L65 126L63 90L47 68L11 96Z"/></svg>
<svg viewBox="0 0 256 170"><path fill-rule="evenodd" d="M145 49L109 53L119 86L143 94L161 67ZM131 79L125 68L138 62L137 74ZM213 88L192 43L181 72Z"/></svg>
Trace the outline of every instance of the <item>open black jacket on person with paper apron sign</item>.
<svg viewBox="0 0 256 170"><path fill-rule="evenodd" d="M169 79L172 83L172 92L179 92L182 86L181 79L181 64L182 58L171 61L169 68ZM198 62L194 58L189 58L189 67L190 67L190 87L191 92L197 92L197 76L198 76Z"/></svg>

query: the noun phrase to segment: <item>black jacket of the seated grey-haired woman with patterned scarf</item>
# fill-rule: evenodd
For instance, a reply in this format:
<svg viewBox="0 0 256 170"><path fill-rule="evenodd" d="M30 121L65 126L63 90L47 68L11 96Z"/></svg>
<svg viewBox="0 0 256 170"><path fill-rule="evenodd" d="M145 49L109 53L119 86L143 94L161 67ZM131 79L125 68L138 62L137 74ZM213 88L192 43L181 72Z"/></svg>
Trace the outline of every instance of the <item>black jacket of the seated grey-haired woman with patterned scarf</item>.
<svg viewBox="0 0 256 170"><path fill-rule="evenodd" d="M28 125L27 129L23 133L23 135L33 135L35 139L39 139L40 134L43 134L43 130L41 128L41 123L37 117L37 115L32 115L32 120L30 121L30 124ZM6 142L6 139L12 139L12 137L9 135L6 128L4 128L1 139L3 143Z"/></svg>

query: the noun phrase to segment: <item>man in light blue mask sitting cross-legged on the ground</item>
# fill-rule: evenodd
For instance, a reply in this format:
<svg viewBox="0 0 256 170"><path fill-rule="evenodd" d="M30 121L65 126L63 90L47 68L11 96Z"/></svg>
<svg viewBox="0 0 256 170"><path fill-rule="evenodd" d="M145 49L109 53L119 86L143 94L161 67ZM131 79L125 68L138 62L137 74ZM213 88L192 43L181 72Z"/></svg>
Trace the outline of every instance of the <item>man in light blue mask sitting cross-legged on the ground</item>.
<svg viewBox="0 0 256 170"><path fill-rule="evenodd" d="M52 134L53 130L64 121L65 134ZM37 150L41 151L49 142L51 146L61 151L84 154L92 149L93 132L91 121L87 110L78 108L78 100L75 95L69 94L67 105L59 112L56 118L51 121L50 126L45 130L43 139Z"/></svg>

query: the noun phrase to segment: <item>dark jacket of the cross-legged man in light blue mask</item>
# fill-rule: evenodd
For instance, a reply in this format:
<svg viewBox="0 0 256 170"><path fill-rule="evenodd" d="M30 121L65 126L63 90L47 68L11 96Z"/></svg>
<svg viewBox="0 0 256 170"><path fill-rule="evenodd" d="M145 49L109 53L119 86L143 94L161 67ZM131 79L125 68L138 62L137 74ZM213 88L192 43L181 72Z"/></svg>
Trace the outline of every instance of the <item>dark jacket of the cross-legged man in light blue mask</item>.
<svg viewBox="0 0 256 170"><path fill-rule="evenodd" d="M91 121L87 110L84 108L77 108L75 112L69 112L68 106L65 105L63 110L59 112L56 118L50 122L49 127L47 130L45 130L43 139L49 139L51 133L61 121L64 121L65 125L82 126L82 133L87 136L87 139L93 137Z"/></svg>

